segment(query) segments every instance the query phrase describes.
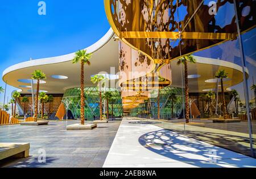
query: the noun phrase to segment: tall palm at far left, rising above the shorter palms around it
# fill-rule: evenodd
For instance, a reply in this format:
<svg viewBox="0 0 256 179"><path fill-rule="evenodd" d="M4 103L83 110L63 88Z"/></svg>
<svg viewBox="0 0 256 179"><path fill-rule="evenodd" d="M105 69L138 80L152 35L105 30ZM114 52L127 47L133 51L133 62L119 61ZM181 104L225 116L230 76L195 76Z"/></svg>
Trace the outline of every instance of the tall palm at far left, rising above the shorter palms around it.
<svg viewBox="0 0 256 179"><path fill-rule="evenodd" d="M42 70L35 70L34 73L32 73L32 79L37 80L36 85L36 98L35 98L35 114L34 114L34 121L38 121L38 97L39 97L39 85L40 80L46 79L46 74L42 72Z"/></svg>

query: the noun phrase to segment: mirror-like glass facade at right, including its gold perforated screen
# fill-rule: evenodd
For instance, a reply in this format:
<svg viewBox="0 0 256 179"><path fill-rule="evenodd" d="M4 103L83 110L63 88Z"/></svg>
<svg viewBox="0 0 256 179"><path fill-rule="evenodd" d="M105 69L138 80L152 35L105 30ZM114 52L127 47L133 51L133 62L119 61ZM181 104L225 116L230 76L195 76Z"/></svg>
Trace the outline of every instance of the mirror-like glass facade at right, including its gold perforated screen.
<svg viewBox="0 0 256 179"><path fill-rule="evenodd" d="M122 95L129 103L148 97L127 115L160 119L155 125L255 157L255 8L252 0L106 3L122 43L154 63L146 75L122 79L121 86L130 87ZM133 71L133 56L124 49L120 69ZM182 57L187 59L177 65ZM171 79L159 73L150 81L164 64L170 64ZM144 84L153 85L143 89ZM156 88L158 95L151 97Z"/></svg>

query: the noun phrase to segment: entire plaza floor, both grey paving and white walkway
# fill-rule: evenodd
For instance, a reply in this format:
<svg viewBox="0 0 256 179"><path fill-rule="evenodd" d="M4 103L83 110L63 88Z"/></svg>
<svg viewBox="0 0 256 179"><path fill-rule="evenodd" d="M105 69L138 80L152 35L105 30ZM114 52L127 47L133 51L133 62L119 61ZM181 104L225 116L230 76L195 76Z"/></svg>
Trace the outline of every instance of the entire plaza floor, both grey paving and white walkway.
<svg viewBox="0 0 256 179"><path fill-rule="evenodd" d="M0 126L0 142L31 146L28 158L5 159L0 167L256 167L256 159L208 142L208 135L225 139L222 130L187 126L195 135L204 133L197 140L189 132L184 135L181 124L161 120L123 118L98 124L94 130L67 131L66 126L74 123L79 120ZM231 142L242 133L229 135Z"/></svg>

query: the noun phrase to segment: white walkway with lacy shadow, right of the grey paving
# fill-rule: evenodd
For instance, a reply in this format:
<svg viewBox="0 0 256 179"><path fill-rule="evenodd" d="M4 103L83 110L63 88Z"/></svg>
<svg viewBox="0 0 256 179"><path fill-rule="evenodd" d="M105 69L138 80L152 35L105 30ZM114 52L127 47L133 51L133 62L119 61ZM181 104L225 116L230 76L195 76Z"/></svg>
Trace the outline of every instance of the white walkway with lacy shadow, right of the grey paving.
<svg viewBox="0 0 256 179"><path fill-rule="evenodd" d="M104 167L256 167L256 159L149 122L123 118Z"/></svg>

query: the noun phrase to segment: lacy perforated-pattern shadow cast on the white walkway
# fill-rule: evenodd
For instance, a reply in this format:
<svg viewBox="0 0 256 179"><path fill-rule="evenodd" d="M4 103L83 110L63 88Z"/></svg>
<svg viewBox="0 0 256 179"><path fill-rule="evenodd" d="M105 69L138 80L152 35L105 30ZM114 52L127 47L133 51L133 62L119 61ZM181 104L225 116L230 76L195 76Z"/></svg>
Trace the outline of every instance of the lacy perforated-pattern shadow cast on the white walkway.
<svg viewBox="0 0 256 179"><path fill-rule="evenodd" d="M245 167L243 159L247 158L170 130L144 134L139 138L139 143L159 155L199 167ZM256 166L256 160L252 161L250 164Z"/></svg>

